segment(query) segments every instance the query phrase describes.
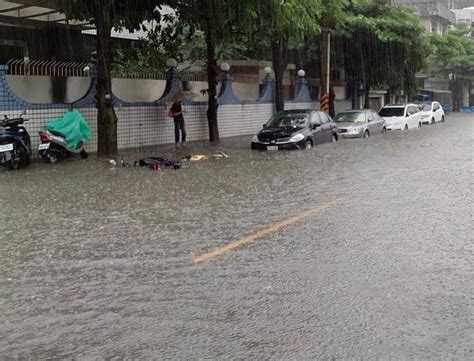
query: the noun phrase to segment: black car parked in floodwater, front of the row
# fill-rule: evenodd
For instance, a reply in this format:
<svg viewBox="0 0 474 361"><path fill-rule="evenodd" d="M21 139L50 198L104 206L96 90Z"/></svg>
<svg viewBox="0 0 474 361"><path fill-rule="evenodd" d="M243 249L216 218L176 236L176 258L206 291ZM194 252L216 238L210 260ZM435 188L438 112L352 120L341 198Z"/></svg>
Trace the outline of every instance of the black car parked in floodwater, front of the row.
<svg viewBox="0 0 474 361"><path fill-rule="evenodd" d="M309 149L337 140L336 124L326 113L311 109L285 110L264 124L253 137L252 149Z"/></svg>

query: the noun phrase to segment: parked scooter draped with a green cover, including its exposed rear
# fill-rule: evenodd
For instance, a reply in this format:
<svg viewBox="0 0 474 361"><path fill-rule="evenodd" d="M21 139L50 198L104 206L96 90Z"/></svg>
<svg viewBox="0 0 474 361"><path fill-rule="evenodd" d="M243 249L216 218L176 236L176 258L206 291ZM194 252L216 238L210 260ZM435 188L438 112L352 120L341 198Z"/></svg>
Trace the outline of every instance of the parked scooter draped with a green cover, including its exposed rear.
<svg viewBox="0 0 474 361"><path fill-rule="evenodd" d="M47 124L46 130L39 132L41 157L48 163L56 163L64 158L79 155L87 158L84 143L92 132L78 110L68 111L62 118Z"/></svg>

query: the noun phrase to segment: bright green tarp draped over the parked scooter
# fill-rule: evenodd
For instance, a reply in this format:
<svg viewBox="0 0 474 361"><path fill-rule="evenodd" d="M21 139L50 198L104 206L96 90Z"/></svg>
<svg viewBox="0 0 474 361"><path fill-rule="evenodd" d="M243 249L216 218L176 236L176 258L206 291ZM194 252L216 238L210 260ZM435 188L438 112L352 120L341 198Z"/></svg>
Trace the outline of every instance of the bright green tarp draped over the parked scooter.
<svg viewBox="0 0 474 361"><path fill-rule="evenodd" d="M63 134L72 149L76 149L79 142L89 140L92 136L89 124L77 110L71 110L62 118L48 122L47 129Z"/></svg>

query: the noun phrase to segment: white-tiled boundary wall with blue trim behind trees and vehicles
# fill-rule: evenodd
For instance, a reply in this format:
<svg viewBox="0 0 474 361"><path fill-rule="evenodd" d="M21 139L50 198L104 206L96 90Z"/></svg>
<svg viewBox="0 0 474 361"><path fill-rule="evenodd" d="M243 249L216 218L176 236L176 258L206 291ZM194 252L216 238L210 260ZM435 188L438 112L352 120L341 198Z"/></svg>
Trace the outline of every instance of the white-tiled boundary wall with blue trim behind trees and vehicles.
<svg viewBox="0 0 474 361"><path fill-rule="evenodd" d="M35 80L26 79L26 81L31 84L31 82ZM147 96L144 95L146 92L139 91L140 88L147 88L148 92L150 92L150 89L153 89L153 93L156 91L157 93L153 96L155 100L161 96L166 98L166 92L162 94L163 92L160 93L158 91L158 89L164 90L163 84L155 80L144 81L143 84L145 85L143 86L141 86L138 81L129 80L121 83L124 87L126 87L127 84L134 84L137 93L132 91L132 86L130 85L130 89L122 89L119 90L118 94L115 94L117 96L120 95L120 98L122 98L115 100L115 110L118 117L117 131L119 149L173 143L174 123L173 120L167 116L171 103L156 101L126 102L126 100L132 99L132 97L134 99L137 97L141 97L141 99L147 98ZM85 83L82 84L83 88L81 89L85 89L85 85ZM204 84L194 85L196 87L193 88L193 91ZM61 117L67 111L67 105L37 104L37 102L22 99L17 94L20 86L25 87L21 82L16 88L11 87L10 82L7 81L5 76L5 68L2 69L0 66L0 116L5 114L9 117L15 117L19 115L23 109L30 110L28 114L29 121L25 126L31 135L34 156L37 156L36 149L39 145L38 131L44 129L48 121ZM45 86L44 82L42 86ZM247 91L246 94L249 97L255 97L255 89L257 86L258 85L255 85L254 88L238 86L237 88ZM16 92L14 92L14 89L16 89ZM78 95L75 96L76 100L78 100L75 103L75 107L84 115L93 131L93 138L88 142L87 149L94 152L97 150L97 110L94 105L94 84L92 84L92 86L89 84L88 89L89 92L82 99L78 100ZM251 136L260 130L262 124L266 123L274 114L274 103L255 100L241 101L235 96L229 96L231 90L232 88L224 89L224 95L219 98L218 122L220 135L221 137L248 135L250 141ZM36 94L35 97L37 98L34 98L32 95L25 97L35 100L40 99L36 89L33 93ZM46 100L46 98L44 100ZM336 111L345 110L349 108L350 105L350 102L347 101L337 101ZM207 103L191 102L185 106L188 111L185 116L188 139L190 141L208 139L206 118ZM285 104L285 107L286 109L319 109L319 103L311 99L303 102L289 101Z"/></svg>

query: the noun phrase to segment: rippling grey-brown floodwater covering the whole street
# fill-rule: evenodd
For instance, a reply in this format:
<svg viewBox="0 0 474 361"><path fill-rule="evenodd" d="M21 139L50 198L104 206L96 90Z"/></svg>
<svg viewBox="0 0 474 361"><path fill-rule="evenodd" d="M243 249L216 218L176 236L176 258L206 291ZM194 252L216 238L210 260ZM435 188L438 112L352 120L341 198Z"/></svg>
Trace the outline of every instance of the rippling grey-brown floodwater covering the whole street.
<svg viewBox="0 0 474 361"><path fill-rule="evenodd" d="M474 359L473 118L2 169L1 358Z"/></svg>

